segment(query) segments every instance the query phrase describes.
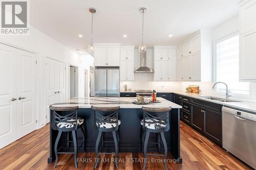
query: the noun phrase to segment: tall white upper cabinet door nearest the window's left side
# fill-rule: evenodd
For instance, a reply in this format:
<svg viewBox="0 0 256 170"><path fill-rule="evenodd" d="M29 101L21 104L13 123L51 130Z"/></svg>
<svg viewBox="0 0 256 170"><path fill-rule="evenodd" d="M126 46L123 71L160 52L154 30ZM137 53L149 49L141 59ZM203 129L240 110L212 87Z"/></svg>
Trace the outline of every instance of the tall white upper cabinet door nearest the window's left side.
<svg viewBox="0 0 256 170"><path fill-rule="evenodd" d="M191 56L191 79L193 81L201 80L201 57L200 53Z"/></svg>

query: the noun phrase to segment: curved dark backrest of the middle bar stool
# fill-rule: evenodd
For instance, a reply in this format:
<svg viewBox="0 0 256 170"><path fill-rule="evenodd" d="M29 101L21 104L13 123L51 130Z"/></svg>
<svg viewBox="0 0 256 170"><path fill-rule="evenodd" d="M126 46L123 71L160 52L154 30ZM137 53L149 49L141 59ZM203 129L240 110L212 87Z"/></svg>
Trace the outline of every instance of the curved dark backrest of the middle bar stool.
<svg viewBox="0 0 256 170"><path fill-rule="evenodd" d="M96 123L111 123L116 124L115 131L118 130L118 111L120 107L94 107L92 106L92 110L94 111L94 129L97 130Z"/></svg>

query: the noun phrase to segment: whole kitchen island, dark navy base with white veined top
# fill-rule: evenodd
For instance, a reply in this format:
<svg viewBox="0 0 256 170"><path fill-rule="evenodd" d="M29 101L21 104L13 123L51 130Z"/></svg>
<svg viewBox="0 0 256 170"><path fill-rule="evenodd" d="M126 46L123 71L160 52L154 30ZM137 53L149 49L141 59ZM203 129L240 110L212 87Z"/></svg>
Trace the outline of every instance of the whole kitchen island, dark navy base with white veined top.
<svg viewBox="0 0 256 170"><path fill-rule="evenodd" d="M162 98L157 98L161 103L148 104L148 105L135 105L132 102L136 98L75 98L70 99L65 103L53 104L55 107L69 107L78 106L78 117L82 117L85 120L86 129L86 151L95 152L95 143L98 135L98 131L94 129L94 114L91 109L92 106L97 107L115 107L119 106L119 120L121 125L119 126L119 149L120 152L141 152L141 134L142 126L140 125L141 119L143 119L142 106L146 107L172 107L169 113L170 130L164 132L167 142L168 152L171 152L173 157L177 159L177 162L182 163L180 157L180 105L173 102L169 102ZM52 111L50 110L50 121L52 120ZM50 156L48 163L52 163L55 159L54 143L57 137L58 131L51 128L50 123ZM77 131L77 139L81 140L82 134ZM113 141L112 134L105 133L104 140ZM156 142L158 140L156 134L151 134L150 140ZM58 146L62 146L63 151L66 150L65 135L62 135ZM78 143L79 146L79 143ZM70 149L72 150L73 144ZM148 144L147 152L158 152L157 144ZM104 152L114 151L114 143L104 143ZM78 152L84 152L82 148Z"/></svg>

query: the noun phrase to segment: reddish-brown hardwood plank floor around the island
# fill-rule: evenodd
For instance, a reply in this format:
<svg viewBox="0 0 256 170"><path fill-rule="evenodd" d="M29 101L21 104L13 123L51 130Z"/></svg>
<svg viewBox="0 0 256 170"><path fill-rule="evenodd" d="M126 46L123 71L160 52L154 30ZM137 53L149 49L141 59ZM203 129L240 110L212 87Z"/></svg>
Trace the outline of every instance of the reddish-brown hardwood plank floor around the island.
<svg viewBox="0 0 256 170"><path fill-rule="evenodd" d="M168 169L250 169L236 157L227 153L183 122L181 122L180 128L183 164L168 163ZM1 149L0 169L52 169L53 164L47 163L48 150L49 125ZM78 161L78 169L93 169L94 157L94 153L79 153L78 158L82 159ZM100 155L100 158L111 160L114 155ZM133 163L131 158L137 158L137 161L133 159L135 161ZM141 153L120 153L119 169L143 169L142 158L143 155ZM152 160L161 160L161 158L159 156L148 156L146 169L164 169L163 163L151 162ZM172 155L169 154L168 160L171 159ZM90 160L93 163L86 163L86 161L89 162ZM61 154L56 169L75 169L74 156ZM98 169L115 169L115 164L111 161L102 162L98 164Z"/></svg>

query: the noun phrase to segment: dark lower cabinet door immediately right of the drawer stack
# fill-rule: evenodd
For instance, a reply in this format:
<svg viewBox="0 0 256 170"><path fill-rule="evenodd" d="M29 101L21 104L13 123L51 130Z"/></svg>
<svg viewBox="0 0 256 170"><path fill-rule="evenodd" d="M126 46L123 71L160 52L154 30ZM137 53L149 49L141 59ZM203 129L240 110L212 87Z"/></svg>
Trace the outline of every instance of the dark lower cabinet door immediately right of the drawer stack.
<svg viewBox="0 0 256 170"><path fill-rule="evenodd" d="M192 105L192 119L191 124L199 132L204 132L204 110L201 107Z"/></svg>

